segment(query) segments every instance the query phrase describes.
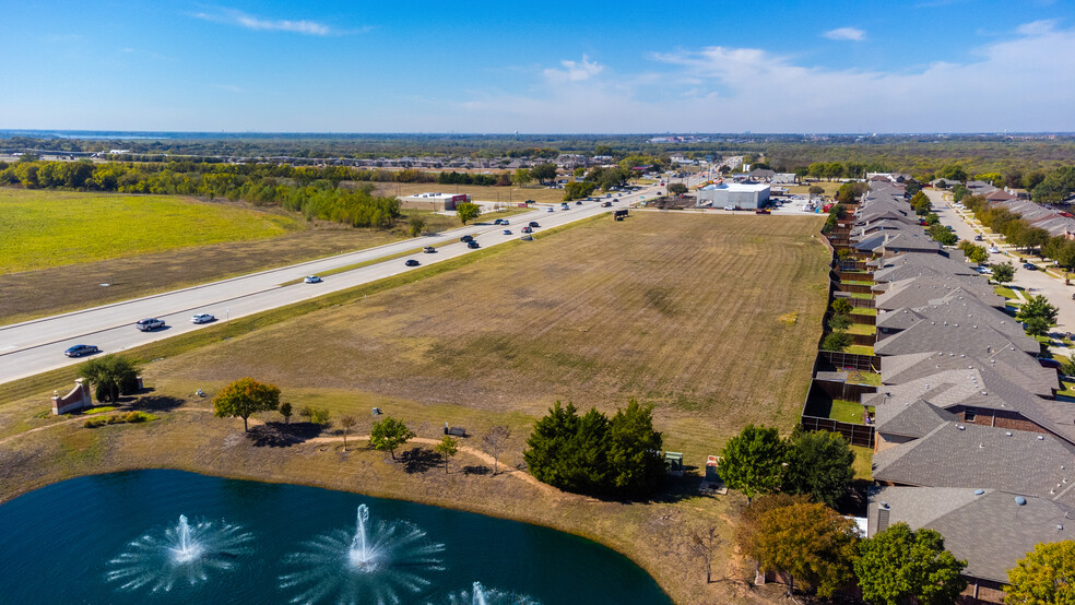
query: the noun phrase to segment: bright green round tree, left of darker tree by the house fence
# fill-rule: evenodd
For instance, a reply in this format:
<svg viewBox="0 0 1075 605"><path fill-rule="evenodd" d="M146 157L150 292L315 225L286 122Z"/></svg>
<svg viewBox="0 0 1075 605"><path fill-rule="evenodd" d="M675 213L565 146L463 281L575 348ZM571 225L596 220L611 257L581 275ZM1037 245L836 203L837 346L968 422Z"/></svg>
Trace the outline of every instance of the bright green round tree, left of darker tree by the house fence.
<svg viewBox="0 0 1075 605"><path fill-rule="evenodd" d="M747 425L724 443L721 455L724 484L748 498L778 491L783 484L788 444L776 428Z"/></svg>

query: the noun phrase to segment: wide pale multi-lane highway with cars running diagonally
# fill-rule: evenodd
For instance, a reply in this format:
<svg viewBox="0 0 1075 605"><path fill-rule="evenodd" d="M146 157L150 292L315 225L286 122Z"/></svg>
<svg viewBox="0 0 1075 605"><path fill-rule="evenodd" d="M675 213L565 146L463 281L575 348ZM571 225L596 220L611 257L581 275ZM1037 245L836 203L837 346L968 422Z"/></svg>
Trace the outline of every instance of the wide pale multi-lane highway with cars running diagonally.
<svg viewBox="0 0 1075 605"><path fill-rule="evenodd" d="M508 226L479 223L435 236L397 241L144 298L0 327L0 383L85 360L63 355L63 351L74 344L96 345L103 353L126 351L206 325L190 322L191 316L196 313L210 313L217 321L226 321L228 318L267 311L413 271L416 268L404 265L404 261L411 258L422 265L428 265L472 252L465 244L459 241L463 235L474 236L483 248L496 246L519 238L522 227L530 221L541 223L541 227L535 229L540 233L548 227L626 207L639 198L652 197L663 189L651 186L630 195L612 198L611 209L601 207L600 202L605 201L605 198L598 202L582 202L581 205L571 203L570 210L566 211L560 210L559 205L552 206L553 212L547 212L548 206L541 206L533 212L511 216L511 224ZM503 235L504 229L510 229L511 235ZM374 262L359 269L328 275L320 284L282 285L302 280L306 275L376 261L424 246L437 246L437 252L420 252L405 258ZM154 332L140 332L134 328L135 321L151 317L163 319L167 328Z"/></svg>

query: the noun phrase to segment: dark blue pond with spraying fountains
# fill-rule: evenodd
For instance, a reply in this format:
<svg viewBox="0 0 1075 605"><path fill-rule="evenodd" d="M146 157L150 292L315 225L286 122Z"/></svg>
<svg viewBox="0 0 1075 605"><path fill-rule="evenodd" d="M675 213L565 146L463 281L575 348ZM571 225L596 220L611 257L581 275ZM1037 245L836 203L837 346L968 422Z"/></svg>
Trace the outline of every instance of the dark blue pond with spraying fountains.
<svg viewBox="0 0 1075 605"><path fill-rule="evenodd" d="M315 487L135 471L0 506L4 603L670 603L546 527Z"/></svg>

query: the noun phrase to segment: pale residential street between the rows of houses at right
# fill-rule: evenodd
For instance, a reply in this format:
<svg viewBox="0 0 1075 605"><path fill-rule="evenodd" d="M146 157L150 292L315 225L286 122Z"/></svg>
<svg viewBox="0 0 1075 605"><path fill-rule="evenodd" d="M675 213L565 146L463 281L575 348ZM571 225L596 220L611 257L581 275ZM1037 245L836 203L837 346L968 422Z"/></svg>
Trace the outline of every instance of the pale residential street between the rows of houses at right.
<svg viewBox="0 0 1075 605"><path fill-rule="evenodd" d="M923 189L923 191L929 195L930 202L933 204L933 211L937 213L942 225L950 225L955 229L956 235L959 236L959 239L974 240L977 232L949 205L950 202L942 199L942 192L931 191L929 189ZM1006 253L1006 250L1011 247L1004 244L1004 238L988 234L983 235L984 241L979 241L979 245L984 244L987 248L996 246L1001 250L999 254L989 256L990 264L1011 261L1016 266L1015 280L1013 282L1015 285L1024 288L1027 295L1044 295L1054 307L1060 309L1058 313L1058 325L1053 329L1053 332L1075 332L1075 301L1072 300L1072 295L1075 294L1075 287L1065 286L1063 280L1051 277L1043 271L1027 271L1023 269L1017 258Z"/></svg>

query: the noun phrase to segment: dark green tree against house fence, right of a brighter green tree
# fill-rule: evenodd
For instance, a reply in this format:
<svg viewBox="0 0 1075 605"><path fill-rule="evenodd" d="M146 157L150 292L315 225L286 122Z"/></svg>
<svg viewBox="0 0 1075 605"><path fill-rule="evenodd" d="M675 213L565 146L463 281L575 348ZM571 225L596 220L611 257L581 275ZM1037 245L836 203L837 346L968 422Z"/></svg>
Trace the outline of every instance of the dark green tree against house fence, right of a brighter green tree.
<svg viewBox="0 0 1075 605"><path fill-rule="evenodd" d="M854 452L839 432L796 430L790 440L784 490L832 508L851 489Z"/></svg>

